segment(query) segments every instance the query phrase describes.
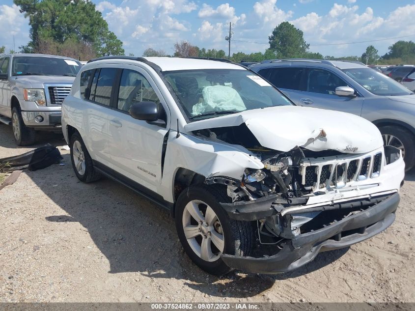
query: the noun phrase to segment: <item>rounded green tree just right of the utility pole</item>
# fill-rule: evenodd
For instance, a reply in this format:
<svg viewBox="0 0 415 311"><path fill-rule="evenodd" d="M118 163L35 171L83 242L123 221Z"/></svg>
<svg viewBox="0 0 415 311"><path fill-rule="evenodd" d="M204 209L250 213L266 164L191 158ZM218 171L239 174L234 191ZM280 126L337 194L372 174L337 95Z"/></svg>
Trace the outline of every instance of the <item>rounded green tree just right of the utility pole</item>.
<svg viewBox="0 0 415 311"><path fill-rule="evenodd" d="M304 57L309 48L303 31L289 22L279 24L268 39L270 50L275 52L277 58Z"/></svg>

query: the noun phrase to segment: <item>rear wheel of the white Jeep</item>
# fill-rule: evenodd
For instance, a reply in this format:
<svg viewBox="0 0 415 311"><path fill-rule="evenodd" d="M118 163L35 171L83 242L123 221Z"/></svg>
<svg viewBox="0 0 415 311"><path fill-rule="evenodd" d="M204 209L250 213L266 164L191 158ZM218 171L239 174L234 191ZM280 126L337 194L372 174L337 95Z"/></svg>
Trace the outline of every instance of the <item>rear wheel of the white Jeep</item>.
<svg viewBox="0 0 415 311"><path fill-rule="evenodd" d="M101 174L94 169L91 156L86 150L81 135L78 132L70 140L71 162L75 175L83 182L92 182L101 178Z"/></svg>

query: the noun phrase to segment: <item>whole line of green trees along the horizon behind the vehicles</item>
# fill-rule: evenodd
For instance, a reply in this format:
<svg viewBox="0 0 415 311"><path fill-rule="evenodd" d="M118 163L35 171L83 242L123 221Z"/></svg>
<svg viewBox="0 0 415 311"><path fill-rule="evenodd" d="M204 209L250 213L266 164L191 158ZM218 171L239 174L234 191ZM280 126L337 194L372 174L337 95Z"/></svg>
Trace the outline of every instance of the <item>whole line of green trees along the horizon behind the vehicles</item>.
<svg viewBox="0 0 415 311"><path fill-rule="evenodd" d="M30 41L21 46L21 53L62 55L88 60L106 55L124 55L122 42L109 30L101 12L95 4L85 0L13 0L25 14L30 25ZM233 53L230 59L235 62L259 62L276 58L314 58L360 60L367 64L415 63L415 43L398 41L391 45L384 56L369 45L359 56L332 57L309 51L301 29L289 22L282 22L268 37L270 47L265 52L246 54ZM176 57L216 57L226 58L224 50L199 48L188 41L174 44ZM15 51L9 51L15 53ZM0 46L0 54L4 54ZM133 56L134 54L130 54ZM144 57L169 56L163 50L147 48Z"/></svg>

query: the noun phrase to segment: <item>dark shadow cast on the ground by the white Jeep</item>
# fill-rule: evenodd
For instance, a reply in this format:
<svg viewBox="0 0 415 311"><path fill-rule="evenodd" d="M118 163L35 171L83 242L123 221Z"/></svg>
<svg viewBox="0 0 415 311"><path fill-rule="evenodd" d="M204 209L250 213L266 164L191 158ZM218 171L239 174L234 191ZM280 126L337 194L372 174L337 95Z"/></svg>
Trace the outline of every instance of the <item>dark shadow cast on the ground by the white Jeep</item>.
<svg viewBox="0 0 415 311"><path fill-rule="evenodd" d="M27 174L67 214L49 215L46 220L62 223L62 228L66 222L79 222L109 260L109 273L139 272L148 278L187 280L187 286L209 296L243 298L269 289L278 280L318 270L347 252L322 253L296 271L275 276L232 272L215 277L200 270L184 253L168 211L109 179L81 183L70 155L63 158L65 166ZM76 236L73 242L78 242Z"/></svg>

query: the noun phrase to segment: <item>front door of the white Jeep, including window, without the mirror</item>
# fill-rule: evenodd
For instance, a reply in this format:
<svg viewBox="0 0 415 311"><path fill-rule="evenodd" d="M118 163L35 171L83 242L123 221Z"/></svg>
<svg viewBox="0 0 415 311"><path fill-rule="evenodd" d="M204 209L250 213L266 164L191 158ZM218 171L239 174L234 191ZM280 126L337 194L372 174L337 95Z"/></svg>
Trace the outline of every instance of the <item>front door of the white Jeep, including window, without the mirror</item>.
<svg viewBox="0 0 415 311"><path fill-rule="evenodd" d="M109 132L114 141L111 161L114 170L121 175L157 191L162 178L163 141L170 113L159 89L144 69L131 65L119 74L119 91L114 94L116 107L109 120ZM165 125L137 120L128 113L132 104L143 101L159 105L160 118Z"/></svg>

